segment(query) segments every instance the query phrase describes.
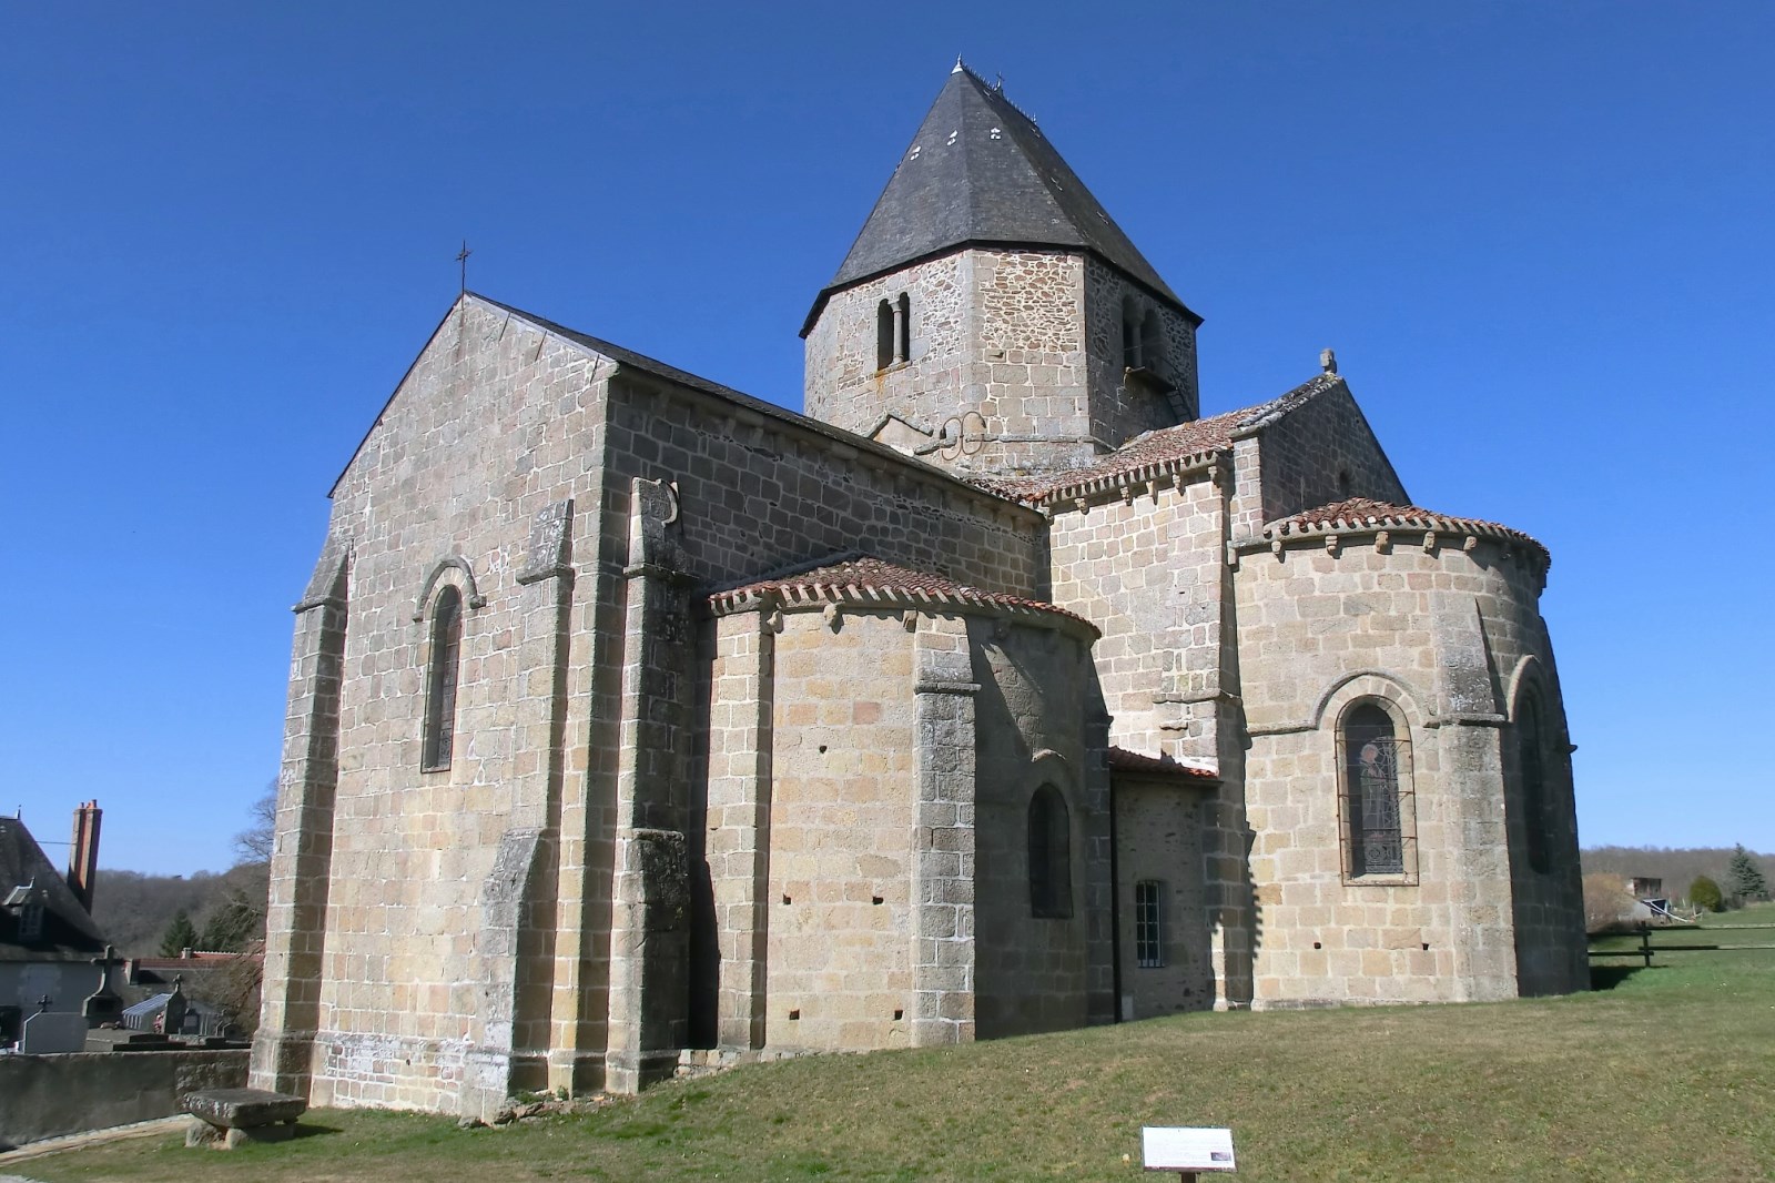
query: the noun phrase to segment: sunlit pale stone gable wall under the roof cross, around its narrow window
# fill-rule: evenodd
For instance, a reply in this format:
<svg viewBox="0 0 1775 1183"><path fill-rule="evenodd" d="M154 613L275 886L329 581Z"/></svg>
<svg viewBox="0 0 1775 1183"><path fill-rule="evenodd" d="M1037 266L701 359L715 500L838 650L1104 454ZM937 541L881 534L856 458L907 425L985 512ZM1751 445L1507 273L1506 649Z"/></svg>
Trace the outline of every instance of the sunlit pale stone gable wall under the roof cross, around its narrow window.
<svg viewBox="0 0 1775 1183"><path fill-rule="evenodd" d="M456 1105L465 1052L485 1036L481 892L529 741L515 574L548 503L575 497L575 533L596 528L602 419L596 359L467 298L335 490L330 529L355 556L316 1103ZM421 773L428 622L412 615L449 556L472 565L486 606L463 615L454 758ZM570 661L589 657L579 645ZM568 824L584 826L582 806L568 803ZM579 874L563 869L568 883Z"/></svg>

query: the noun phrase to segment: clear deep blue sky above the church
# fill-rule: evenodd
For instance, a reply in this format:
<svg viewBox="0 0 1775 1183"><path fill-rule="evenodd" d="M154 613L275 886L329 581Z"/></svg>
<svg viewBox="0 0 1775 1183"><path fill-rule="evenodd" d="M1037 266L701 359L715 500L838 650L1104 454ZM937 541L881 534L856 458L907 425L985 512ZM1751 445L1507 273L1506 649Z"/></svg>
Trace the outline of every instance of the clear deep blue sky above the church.
<svg viewBox="0 0 1775 1183"><path fill-rule="evenodd" d="M1775 849L1775 5L643 7L0 5L0 808L224 869L458 243L797 407L960 52L1207 318L1203 412L1335 346L1420 504L1551 547L1585 844Z"/></svg>

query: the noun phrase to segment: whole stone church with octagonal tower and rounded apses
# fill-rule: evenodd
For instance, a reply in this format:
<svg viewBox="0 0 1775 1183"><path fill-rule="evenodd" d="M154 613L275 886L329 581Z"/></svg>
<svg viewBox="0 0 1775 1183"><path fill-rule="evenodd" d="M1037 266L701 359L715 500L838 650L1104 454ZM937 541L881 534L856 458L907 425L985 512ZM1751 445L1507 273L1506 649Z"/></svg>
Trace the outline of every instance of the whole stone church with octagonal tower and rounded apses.
<svg viewBox="0 0 1775 1183"><path fill-rule="evenodd" d="M1546 549L1200 323L960 64L806 414L465 291L295 609L254 1084L1582 989Z"/></svg>

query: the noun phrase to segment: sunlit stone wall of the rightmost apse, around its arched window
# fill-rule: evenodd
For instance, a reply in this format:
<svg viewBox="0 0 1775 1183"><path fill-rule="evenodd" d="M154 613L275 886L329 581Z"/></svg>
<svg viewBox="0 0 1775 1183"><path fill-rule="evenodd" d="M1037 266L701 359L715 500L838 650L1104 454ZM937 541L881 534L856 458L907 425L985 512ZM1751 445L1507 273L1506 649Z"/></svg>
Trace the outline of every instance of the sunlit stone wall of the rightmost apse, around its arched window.
<svg viewBox="0 0 1775 1183"><path fill-rule="evenodd" d="M1495 542L1370 536L1237 572L1257 1005L1518 993L1496 684L1544 643L1539 570ZM1406 874L1353 879L1337 728L1400 719Z"/></svg>

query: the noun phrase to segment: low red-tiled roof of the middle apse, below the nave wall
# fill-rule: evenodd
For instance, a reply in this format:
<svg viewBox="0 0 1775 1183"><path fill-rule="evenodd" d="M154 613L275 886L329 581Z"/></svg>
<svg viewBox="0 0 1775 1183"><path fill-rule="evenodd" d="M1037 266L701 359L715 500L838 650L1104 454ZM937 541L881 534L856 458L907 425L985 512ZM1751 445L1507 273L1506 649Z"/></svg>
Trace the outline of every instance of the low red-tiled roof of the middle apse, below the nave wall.
<svg viewBox="0 0 1775 1183"><path fill-rule="evenodd" d="M983 592L957 583L948 576L900 567L873 554L850 552L816 561L818 567L779 572L735 588L722 588L708 597L708 606L717 615L744 611L761 599L772 599L786 606L873 604L880 607L927 606L932 609L973 606L1063 616L1097 632L1097 627L1085 620L1085 616L1069 613L1047 600Z"/></svg>

